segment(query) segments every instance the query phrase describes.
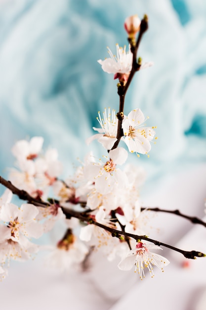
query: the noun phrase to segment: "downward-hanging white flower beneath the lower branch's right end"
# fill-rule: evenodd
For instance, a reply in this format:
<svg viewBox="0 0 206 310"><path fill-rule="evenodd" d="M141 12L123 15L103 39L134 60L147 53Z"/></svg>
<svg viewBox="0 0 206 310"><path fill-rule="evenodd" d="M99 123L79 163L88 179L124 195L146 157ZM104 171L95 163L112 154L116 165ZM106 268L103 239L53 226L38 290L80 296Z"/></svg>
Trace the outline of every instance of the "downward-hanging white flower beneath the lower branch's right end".
<svg viewBox="0 0 206 310"><path fill-rule="evenodd" d="M145 277L145 267L149 269L151 277L154 276L153 265L164 271L163 267L169 264L168 259L159 254L150 252L149 249L162 250L160 247L153 244L137 242L136 248L127 253L126 257L121 260L118 267L121 270L130 270L135 265L135 272L138 271L141 280Z"/></svg>

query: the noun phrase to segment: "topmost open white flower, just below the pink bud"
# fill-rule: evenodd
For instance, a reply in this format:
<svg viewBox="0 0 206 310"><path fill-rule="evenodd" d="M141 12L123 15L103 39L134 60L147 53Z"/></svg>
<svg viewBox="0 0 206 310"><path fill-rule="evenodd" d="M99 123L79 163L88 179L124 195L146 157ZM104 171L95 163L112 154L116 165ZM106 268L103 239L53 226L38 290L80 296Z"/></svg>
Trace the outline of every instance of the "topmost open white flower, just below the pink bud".
<svg viewBox="0 0 206 310"><path fill-rule="evenodd" d="M106 58L105 60L99 59L98 62L102 66L102 70L107 73L113 73L114 78L119 78L119 74L129 75L132 67L132 52L126 52L126 46L120 48L118 44L116 44L117 56L115 56L112 51L108 49L110 58Z"/></svg>

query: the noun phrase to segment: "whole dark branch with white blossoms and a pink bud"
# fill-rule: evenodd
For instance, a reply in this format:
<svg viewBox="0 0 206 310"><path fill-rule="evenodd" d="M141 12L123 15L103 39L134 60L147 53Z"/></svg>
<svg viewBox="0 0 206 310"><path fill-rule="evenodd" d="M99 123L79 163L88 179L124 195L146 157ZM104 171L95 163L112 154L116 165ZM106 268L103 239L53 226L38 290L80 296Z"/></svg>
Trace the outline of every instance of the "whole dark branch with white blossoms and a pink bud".
<svg viewBox="0 0 206 310"><path fill-rule="evenodd" d="M12 148L16 168L10 170L9 181L0 177L7 188L0 198L0 280L7 275L10 260L25 261L41 250L31 238L51 231L57 221L67 228L59 242L49 248L47 263L61 270L78 268L94 248L106 253L108 260L118 257L121 270L134 267L141 279L145 268L153 277L153 266L163 270L169 263L153 252L163 250L160 246L186 258L205 257L199 251L184 251L148 236L149 210L173 213L204 226L206 223L178 210L140 205L139 187L145 172L142 167L125 163L128 152L149 157L151 143L157 139L156 127L145 124L148 118L138 107L125 114L124 103L134 74L153 64L137 58L148 18L130 16L124 28L128 48L117 44L116 55L108 48L109 58L98 60L105 72L118 79L120 99L117 114L110 108L103 114L98 112L99 127L93 127L97 133L87 139L88 144L97 140L102 157L97 160L92 154L86 155L73 177L62 180L58 153L55 149L43 153L42 137L18 141ZM12 194L26 203L12 204Z"/></svg>

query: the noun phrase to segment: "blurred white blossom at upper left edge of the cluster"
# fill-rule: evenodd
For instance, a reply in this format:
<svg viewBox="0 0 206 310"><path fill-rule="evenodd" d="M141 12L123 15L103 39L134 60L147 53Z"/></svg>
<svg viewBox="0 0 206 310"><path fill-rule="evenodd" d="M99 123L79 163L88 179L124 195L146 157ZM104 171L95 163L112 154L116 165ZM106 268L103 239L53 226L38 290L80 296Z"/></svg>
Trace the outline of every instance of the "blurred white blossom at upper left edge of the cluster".
<svg viewBox="0 0 206 310"><path fill-rule="evenodd" d="M42 137L33 137L30 141L17 141L11 149L11 152L18 160L32 160L38 157L41 152L42 145Z"/></svg>

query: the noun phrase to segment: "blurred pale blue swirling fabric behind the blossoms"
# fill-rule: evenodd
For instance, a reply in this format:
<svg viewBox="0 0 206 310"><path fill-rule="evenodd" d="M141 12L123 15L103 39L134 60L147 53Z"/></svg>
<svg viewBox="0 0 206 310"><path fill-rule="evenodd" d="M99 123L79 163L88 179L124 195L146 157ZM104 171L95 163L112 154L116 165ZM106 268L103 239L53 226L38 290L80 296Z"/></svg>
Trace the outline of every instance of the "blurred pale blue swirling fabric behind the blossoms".
<svg viewBox="0 0 206 310"><path fill-rule="evenodd" d="M124 19L149 16L140 71L125 114L140 107L157 125L150 159L130 156L153 177L183 162L206 160L206 2L202 0L4 0L0 3L0 173L13 164L20 139L43 136L71 172L96 142L98 110L118 109L117 81L97 59L127 44Z"/></svg>

